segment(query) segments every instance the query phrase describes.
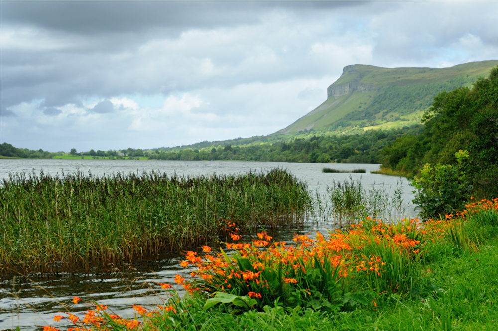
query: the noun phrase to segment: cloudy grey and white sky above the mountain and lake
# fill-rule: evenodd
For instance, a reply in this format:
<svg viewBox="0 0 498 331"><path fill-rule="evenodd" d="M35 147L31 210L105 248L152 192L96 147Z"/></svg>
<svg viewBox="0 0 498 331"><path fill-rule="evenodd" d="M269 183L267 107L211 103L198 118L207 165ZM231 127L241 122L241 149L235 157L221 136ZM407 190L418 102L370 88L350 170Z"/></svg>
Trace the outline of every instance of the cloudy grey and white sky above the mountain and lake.
<svg viewBox="0 0 498 331"><path fill-rule="evenodd" d="M345 66L498 59L498 1L0 1L0 143L52 152L274 133Z"/></svg>

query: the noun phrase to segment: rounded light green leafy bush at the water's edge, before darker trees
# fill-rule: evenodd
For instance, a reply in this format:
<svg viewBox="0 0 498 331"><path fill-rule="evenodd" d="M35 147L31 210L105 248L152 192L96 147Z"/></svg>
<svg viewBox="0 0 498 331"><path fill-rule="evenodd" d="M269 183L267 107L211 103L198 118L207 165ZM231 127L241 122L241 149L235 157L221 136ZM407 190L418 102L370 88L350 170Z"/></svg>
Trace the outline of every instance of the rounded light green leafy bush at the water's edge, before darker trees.
<svg viewBox="0 0 498 331"><path fill-rule="evenodd" d="M432 167L426 164L411 181L415 187L413 203L422 208L420 215L425 220L462 210L472 192L473 186L464 171L464 160L469 158L469 153L460 150L455 157L457 165L438 163Z"/></svg>

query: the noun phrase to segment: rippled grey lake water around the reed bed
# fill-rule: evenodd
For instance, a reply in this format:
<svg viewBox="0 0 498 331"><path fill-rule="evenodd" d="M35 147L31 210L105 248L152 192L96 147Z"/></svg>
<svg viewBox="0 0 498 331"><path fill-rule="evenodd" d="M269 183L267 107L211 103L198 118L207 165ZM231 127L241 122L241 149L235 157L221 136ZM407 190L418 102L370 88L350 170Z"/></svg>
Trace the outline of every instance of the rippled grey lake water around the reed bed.
<svg viewBox="0 0 498 331"><path fill-rule="evenodd" d="M383 188L393 193L396 187L403 188L403 207L405 216L415 217L411 200L413 189L405 178L371 174L379 169L378 164L323 164L323 163L284 163L284 162L222 162L222 161L128 161L128 160L0 160L0 181L8 178L9 173L45 174L52 176L73 173L78 169L92 175L110 175L113 172L150 172L160 171L168 176L207 175L216 173L237 174L249 170L267 171L275 167L288 169L298 179L308 183L308 189L325 194L327 186L335 180L361 179L365 189ZM366 169L365 174L356 173L322 173L323 167L351 171ZM292 228L275 233L277 241L291 241L294 232L310 233L315 230L326 232L333 225L327 221L309 222L300 228ZM52 279L36 279L36 283L26 279L8 279L1 282L0 287L0 330L13 330L20 326L21 330L37 330L36 326L50 325L61 328L68 327L68 321L53 321L53 316L64 311L61 304L71 305L73 312L83 316L87 309L84 304L73 305L73 296L96 300L108 305L115 313L122 316L133 316L133 304L152 308L163 302L164 296L156 284L174 284L174 277L180 274L188 276L189 272L180 266L182 256L170 256L157 261L140 261L125 265L119 270L105 274L60 273Z"/></svg>

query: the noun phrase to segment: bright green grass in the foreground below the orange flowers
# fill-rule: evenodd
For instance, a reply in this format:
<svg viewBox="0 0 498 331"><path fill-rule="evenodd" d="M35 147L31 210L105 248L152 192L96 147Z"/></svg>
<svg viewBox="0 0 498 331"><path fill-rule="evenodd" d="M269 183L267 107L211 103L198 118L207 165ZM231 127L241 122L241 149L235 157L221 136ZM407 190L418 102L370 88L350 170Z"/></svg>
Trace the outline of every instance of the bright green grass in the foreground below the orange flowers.
<svg viewBox="0 0 498 331"><path fill-rule="evenodd" d="M175 330L498 330L498 228L490 232L489 222L482 224L486 217L479 213L465 223L467 234L488 233L477 249L455 250L444 240L426 248L433 254L420 261L422 273L413 275L423 277L425 290L377 293L371 302L335 313L286 308L277 302L261 311L221 306L205 311L203 300L191 298L186 300L191 304L188 314L180 314ZM173 326L160 321L157 325Z"/></svg>

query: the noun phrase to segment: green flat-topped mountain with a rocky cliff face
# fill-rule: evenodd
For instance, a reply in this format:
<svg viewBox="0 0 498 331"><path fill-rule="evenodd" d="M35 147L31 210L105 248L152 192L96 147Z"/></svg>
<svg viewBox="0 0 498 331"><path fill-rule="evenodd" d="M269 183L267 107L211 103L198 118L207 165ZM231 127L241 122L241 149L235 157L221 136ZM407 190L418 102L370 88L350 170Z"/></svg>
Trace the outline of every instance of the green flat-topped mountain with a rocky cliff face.
<svg viewBox="0 0 498 331"><path fill-rule="evenodd" d="M358 133L416 124L439 92L470 87L496 65L498 60L441 69L350 65L328 87L325 102L277 133L293 135L311 129Z"/></svg>

